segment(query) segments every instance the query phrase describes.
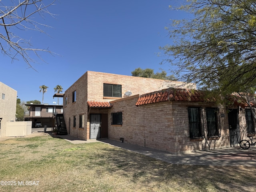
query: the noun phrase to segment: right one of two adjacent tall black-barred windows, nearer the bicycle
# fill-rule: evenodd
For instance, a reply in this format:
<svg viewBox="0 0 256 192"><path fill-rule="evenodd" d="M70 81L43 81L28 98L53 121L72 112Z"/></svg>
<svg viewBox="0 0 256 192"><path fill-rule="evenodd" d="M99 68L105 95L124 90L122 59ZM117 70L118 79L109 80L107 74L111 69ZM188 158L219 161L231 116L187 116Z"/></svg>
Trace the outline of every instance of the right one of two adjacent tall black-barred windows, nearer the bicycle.
<svg viewBox="0 0 256 192"><path fill-rule="evenodd" d="M218 108L206 108L206 121L207 121L207 136L220 137L220 130L218 126Z"/></svg>

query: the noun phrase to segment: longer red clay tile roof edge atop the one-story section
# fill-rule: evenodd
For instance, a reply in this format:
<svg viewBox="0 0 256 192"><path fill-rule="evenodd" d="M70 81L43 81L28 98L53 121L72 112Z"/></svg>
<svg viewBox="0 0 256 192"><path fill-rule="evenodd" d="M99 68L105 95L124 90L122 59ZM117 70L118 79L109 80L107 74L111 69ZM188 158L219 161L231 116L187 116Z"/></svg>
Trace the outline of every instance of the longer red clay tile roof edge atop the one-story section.
<svg viewBox="0 0 256 192"><path fill-rule="evenodd" d="M216 100L206 98L199 90L169 88L140 95L136 106L164 101L215 102Z"/></svg>

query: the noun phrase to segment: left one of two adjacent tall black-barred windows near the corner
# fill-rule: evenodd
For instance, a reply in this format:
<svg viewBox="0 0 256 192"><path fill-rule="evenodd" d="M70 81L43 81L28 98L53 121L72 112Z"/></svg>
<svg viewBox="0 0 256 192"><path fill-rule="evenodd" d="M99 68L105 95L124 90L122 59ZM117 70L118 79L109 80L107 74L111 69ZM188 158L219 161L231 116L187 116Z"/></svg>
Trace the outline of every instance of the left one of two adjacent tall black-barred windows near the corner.
<svg viewBox="0 0 256 192"><path fill-rule="evenodd" d="M200 107L188 108L189 134L191 139L204 138Z"/></svg>

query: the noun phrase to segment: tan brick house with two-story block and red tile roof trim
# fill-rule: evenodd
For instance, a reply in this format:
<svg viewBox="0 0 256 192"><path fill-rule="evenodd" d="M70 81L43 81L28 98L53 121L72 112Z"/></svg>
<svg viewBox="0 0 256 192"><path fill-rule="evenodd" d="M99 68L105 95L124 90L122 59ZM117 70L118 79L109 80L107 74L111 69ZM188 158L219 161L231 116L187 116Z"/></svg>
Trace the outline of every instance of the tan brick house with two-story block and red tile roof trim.
<svg viewBox="0 0 256 192"><path fill-rule="evenodd" d="M249 132L255 134L246 104L219 106L187 86L195 88L88 71L64 93L68 133L84 140L121 139L174 154L234 146Z"/></svg>

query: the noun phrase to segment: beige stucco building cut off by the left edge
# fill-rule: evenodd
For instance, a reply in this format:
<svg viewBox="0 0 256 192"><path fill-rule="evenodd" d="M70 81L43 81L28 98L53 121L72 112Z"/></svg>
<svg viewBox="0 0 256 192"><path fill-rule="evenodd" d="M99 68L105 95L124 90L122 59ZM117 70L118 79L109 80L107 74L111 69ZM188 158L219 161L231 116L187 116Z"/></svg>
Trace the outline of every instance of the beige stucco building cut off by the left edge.
<svg viewBox="0 0 256 192"><path fill-rule="evenodd" d="M0 137L6 136L6 123L16 120L17 91L0 82Z"/></svg>

